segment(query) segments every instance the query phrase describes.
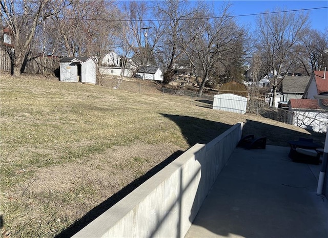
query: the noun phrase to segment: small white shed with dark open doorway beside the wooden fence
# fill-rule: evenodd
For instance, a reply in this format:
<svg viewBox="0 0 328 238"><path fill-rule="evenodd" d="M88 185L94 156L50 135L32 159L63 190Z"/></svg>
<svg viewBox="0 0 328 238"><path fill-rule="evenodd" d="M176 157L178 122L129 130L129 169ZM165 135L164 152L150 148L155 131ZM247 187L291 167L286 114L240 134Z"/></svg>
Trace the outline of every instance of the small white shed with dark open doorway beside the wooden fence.
<svg viewBox="0 0 328 238"><path fill-rule="evenodd" d="M97 57L65 57L60 60L60 81L96 83Z"/></svg>

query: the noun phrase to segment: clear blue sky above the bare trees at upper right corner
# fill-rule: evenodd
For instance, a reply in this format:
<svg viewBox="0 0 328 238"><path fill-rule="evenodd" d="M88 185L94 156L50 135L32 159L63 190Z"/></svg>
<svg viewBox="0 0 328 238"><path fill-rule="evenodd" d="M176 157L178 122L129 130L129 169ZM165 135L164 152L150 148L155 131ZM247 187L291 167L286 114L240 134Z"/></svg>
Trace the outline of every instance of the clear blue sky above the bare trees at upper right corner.
<svg viewBox="0 0 328 238"><path fill-rule="evenodd" d="M223 1L211 2L214 7L222 5ZM232 6L230 11L232 15L256 14L265 11L274 11L277 8L281 10L298 10L328 7L328 1L229 1ZM328 8L309 11L312 29L324 32L328 28ZM237 22L241 25L249 25L255 28L256 16L238 16Z"/></svg>

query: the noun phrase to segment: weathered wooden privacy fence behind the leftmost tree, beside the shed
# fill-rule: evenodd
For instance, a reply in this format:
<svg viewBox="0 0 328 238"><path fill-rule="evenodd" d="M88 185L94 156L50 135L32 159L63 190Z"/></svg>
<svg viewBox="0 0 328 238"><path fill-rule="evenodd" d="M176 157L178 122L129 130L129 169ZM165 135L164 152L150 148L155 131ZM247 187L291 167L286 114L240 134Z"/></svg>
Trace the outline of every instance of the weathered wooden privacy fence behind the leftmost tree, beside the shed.
<svg viewBox="0 0 328 238"><path fill-rule="evenodd" d="M44 75L59 75L60 57L37 55L28 58L23 64L22 70L24 73L44 74ZM11 72L11 60L8 52L0 49L0 71Z"/></svg>

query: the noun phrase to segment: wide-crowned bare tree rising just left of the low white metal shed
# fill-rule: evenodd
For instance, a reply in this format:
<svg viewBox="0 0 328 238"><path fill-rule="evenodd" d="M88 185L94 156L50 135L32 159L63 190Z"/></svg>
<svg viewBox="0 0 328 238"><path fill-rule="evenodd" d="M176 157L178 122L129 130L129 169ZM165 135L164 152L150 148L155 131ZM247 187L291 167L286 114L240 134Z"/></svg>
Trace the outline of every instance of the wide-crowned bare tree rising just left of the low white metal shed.
<svg viewBox="0 0 328 238"><path fill-rule="evenodd" d="M201 75L200 80L196 77L199 97L210 77L211 68L217 62L224 63L223 59L227 55L236 53L244 35L244 31L229 15L229 5L223 6L219 16L214 18L209 18L214 16L210 8L201 9L194 14L193 19L186 21L181 37L181 48L188 56L195 75Z"/></svg>

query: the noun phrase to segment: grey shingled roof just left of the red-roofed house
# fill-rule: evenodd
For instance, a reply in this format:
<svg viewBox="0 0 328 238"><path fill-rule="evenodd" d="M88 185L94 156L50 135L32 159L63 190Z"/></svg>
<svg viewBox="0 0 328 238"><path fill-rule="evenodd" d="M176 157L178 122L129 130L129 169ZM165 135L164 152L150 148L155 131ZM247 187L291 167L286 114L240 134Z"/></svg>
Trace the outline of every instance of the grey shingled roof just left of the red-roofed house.
<svg viewBox="0 0 328 238"><path fill-rule="evenodd" d="M303 94L309 80L310 76L286 76L282 80L282 92Z"/></svg>

